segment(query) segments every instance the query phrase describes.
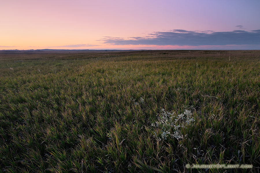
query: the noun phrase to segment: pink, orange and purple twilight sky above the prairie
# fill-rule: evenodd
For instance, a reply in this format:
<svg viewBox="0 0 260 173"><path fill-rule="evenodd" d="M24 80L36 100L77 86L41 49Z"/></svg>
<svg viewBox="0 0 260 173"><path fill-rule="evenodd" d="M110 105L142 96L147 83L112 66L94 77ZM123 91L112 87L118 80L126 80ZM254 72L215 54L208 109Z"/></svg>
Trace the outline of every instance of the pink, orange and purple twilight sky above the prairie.
<svg viewBox="0 0 260 173"><path fill-rule="evenodd" d="M0 4L0 50L260 49L259 0Z"/></svg>

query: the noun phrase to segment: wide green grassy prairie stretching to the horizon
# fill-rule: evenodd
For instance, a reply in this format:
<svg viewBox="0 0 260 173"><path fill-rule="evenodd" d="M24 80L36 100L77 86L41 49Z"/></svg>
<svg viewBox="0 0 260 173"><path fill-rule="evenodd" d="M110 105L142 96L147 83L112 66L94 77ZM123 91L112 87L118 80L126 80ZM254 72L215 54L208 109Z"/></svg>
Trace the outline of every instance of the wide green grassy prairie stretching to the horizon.
<svg viewBox="0 0 260 173"><path fill-rule="evenodd" d="M18 53L0 61L0 172L260 169L260 51Z"/></svg>

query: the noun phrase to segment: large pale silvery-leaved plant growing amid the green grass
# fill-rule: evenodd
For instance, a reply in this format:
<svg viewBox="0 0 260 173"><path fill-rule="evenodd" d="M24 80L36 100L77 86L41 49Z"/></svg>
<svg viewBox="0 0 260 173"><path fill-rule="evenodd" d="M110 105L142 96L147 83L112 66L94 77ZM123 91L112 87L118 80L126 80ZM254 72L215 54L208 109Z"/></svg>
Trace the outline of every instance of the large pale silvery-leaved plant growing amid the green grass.
<svg viewBox="0 0 260 173"><path fill-rule="evenodd" d="M152 123L152 127L156 128L154 137L158 141L166 140L167 137L176 138L178 140L182 139L183 134L181 133L181 128L187 128L190 123L195 121L192 117L192 112L187 109L177 116L174 112L170 113L161 109L161 113L157 114L157 118L158 121Z"/></svg>

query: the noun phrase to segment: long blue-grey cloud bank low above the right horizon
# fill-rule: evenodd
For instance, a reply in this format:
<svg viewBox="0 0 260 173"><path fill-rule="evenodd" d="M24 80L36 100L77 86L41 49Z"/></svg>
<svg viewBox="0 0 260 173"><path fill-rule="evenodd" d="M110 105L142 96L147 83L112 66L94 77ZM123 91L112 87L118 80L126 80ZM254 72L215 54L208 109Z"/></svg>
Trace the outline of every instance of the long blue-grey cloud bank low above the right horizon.
<svg viewBox="0 0 260 173"><path fill-rule="evenodd" d="M260 45L260 30L228 32L186 31L174 29L168 32L154 32L145 37L103 37L99 40L109 45L177 45L177 46L224 46Z"/></svg>

